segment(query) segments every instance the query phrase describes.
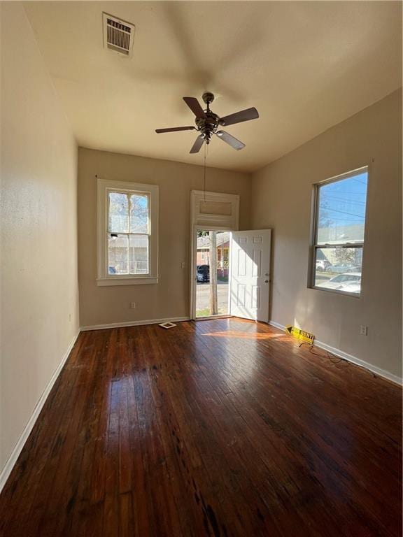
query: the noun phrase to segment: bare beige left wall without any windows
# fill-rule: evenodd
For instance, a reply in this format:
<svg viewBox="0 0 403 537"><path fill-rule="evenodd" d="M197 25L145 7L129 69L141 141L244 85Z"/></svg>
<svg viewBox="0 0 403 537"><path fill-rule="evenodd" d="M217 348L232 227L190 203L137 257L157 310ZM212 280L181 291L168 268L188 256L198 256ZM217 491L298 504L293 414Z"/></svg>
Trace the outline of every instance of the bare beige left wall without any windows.
<svg viewBox="0 0 403 537"><path fill-rule="evenodd" d="M78 332L76 177L22 4L1 2L0 469Z"/></svg>

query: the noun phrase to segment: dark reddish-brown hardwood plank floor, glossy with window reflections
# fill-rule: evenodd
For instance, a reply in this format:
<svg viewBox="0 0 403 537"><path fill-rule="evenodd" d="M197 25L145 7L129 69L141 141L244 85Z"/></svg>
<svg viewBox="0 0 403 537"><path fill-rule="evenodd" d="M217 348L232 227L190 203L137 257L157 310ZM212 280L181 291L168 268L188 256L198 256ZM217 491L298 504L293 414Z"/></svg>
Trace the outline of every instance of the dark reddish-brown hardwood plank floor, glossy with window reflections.
<svg viewBox="0 0 403 537"><path fill-rule="evenodd" d="M80 334L1 536L400 536L400 388L298 345L236 319Z"/></svg>

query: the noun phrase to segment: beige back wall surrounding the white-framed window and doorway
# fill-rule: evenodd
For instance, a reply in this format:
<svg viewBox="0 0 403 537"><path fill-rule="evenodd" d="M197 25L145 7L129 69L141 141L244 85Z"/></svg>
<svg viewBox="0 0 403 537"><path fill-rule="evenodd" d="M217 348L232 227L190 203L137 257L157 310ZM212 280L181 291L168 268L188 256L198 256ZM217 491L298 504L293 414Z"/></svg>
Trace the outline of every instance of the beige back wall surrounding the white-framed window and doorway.
<svg viewBox="0 0 403 537"><path fill-rule="evenodd" d="M160 185L159 272L156 285L97 287L97 179ZM78 257L80 324L189 315L190 191L203 188L203 169L166 160L78 150ZM240 227L247 229L250 176L208 168L206 189L240 194ZM186 268L181 263L186 262ZM136 309L129 309L130 302Z"/></svg>

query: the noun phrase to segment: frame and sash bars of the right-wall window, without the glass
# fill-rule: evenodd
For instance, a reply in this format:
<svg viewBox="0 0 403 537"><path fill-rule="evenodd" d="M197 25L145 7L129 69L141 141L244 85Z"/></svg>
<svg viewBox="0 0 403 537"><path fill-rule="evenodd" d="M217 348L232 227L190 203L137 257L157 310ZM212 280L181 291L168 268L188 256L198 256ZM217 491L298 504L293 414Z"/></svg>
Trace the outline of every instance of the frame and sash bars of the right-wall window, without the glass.
<svg viewBox="0 0 403 537"><path fill-rule="evenodd" d="M361 166L347 173L341 173L339 176L334 176L329 179L317 182L313 185L313 194L312 194L312 218L311 218L311 244L310 244L310 255L309 255L309 281L308 287L310 289L318 289L318 291L325 291L330 293L344 294L346 296L352 296L359 299L362 296L362 268L364 266L364 244L365 244L365 231L367 229L367 206L365 206L365 222L364 222L364 240L355 241L353 243L330 243L330 244L318 244L318 200L319 200L319 189L324 185L329 185L331 182L338 182L350 177L358 176L360 173L367 173L367 198L368 198L368 183L369 183L369 166ZM351 293L347 291L341 291L339 289L327 289L326 287L318 287L315 285L315 274L316 274L316 250L325 249L325 248L361 248L362 250L362 264L361 264L361 291L360 293Z"/></svg>

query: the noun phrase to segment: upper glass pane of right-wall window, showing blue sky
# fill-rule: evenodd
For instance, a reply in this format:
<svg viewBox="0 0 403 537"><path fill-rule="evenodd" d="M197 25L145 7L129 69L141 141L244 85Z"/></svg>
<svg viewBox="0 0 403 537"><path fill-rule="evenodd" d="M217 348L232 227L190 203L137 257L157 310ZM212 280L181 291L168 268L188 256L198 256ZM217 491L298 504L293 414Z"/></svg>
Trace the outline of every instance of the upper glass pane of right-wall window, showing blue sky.
<svg viewBox="0 0 403 537"><path fill-rule="evenodd" d="M364 241L368 174L318 187L318 244Z"/></svg>

